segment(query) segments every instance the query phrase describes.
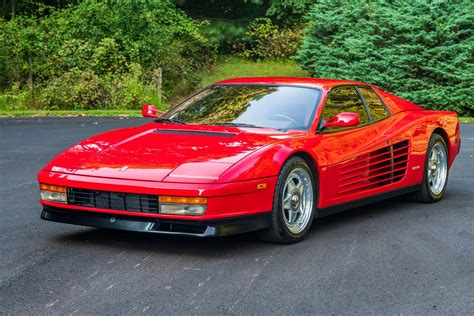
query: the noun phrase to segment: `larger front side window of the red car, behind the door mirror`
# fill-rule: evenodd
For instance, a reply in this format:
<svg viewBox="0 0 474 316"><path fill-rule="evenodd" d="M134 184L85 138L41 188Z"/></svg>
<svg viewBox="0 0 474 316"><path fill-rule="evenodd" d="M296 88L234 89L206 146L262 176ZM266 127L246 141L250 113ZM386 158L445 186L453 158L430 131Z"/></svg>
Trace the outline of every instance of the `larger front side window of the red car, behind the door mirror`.
<svg viewBox="0 0 474 316"><path fill-rule="evenodd" d="M359 125L369 122L369 115L359 94L352 86L337 87L329 92L324 105L323 117L329 119L341 112L353 112L359 115Z"/></svg>

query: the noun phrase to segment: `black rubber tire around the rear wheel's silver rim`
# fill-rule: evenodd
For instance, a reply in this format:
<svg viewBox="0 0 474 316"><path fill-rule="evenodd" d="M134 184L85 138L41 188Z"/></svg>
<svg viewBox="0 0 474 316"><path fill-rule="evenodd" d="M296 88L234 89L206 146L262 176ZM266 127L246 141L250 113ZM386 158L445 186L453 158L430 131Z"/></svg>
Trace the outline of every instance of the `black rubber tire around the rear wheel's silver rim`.
<svg viewBox="0 0 474 316"><path fill-rule="evenodd" d="M446 152L446 159L447 162L449 161L449 151L448 151L448 146L446 145L446 141L444 138L438 134L438 133L433 133L430 138L430 142L428 144L428 149L426 150L426 158L425 158L425 167L423 171L423 182L421 183L421 189L417 192L415 192L412 195L412 198L415 201L422 202L422 203L435 203L443 199L444 194L446 192L446 188L448 186L448 178L449 178L449 168L446 166L446 181L444 183L444 187L441 190L440 193L434 194L432 190L430 189L430 181L428 179L428 169L429 169L429 158L430 158L430 153L435 146L435 144L441 144L444 147L444 150Z"/></svg>

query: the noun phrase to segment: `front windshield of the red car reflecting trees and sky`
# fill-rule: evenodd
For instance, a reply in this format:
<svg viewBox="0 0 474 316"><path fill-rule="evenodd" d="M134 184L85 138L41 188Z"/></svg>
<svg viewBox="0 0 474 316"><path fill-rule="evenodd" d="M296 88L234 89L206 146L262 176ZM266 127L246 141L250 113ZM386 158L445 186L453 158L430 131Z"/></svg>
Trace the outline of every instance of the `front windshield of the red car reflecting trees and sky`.
<svg viewBox="0 0 474 316"><path fill-rule="evenodd" d="M163 119L191 124L309 129L320 90L292 86L217 85L173 108Z"/></svg>

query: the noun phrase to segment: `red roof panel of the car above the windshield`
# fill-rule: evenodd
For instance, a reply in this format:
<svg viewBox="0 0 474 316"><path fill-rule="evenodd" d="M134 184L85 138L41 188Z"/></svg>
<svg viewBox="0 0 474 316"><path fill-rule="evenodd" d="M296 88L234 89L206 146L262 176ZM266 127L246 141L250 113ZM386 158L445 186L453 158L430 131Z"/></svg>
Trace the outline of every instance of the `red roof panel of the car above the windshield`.
<svg viewBox="0 0 474 316"><path fill-rule="evenodd" d="M220 84L269 84L269 85L295 85L322 88L328 90L339 85L368 85L363 82L352 80L324 79L324 78L302 78L302 77L245 77L232 78L216 82Z"/></svg>

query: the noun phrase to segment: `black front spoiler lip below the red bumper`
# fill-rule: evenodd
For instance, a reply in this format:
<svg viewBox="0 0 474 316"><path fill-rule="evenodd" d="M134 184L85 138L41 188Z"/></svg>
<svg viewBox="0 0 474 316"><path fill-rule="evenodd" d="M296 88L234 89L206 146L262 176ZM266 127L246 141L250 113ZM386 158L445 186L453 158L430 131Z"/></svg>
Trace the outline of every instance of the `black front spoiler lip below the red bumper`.
<svg viewBox="0 0 474 316"><path fill-rule="evenodd" d="M41 219L135 232L215 237L235 235L266 228L270 226L271 212L226 219L194 221L106 214L44 206Z"/></svg>

